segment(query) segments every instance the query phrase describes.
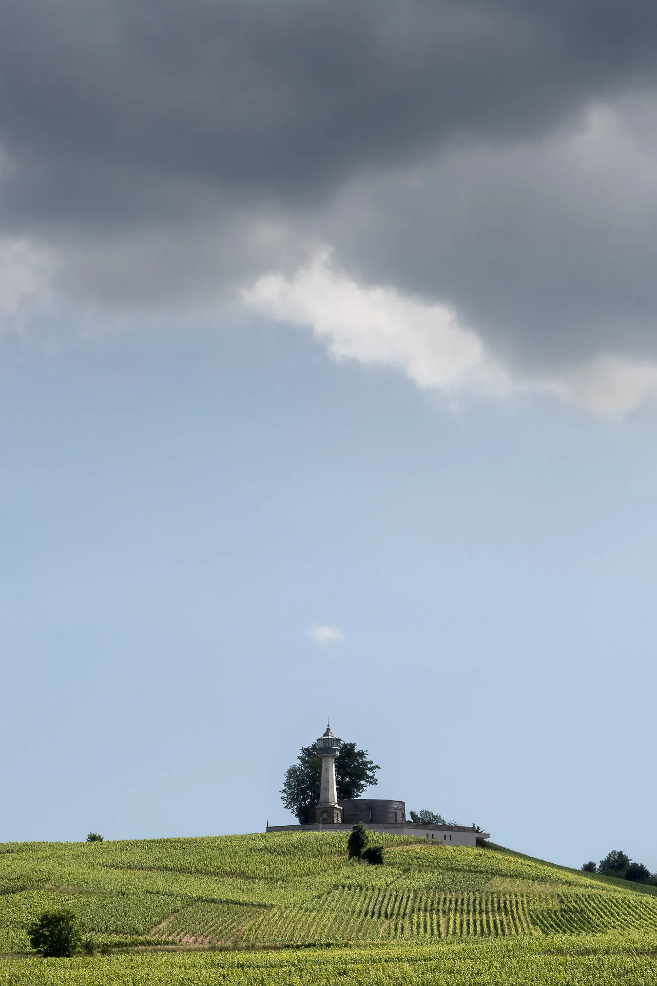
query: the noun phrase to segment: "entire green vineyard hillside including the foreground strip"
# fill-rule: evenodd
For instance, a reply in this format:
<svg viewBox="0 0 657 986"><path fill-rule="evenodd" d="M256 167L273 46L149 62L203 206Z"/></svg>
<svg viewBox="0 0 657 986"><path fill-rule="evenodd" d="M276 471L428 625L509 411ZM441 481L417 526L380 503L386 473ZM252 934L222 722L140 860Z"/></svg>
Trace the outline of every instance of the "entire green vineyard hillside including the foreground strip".
<svg viewBox="0 0 657 986"><path fill-rule="evenodd" d="M496 848L343 833L0 845L0 986L655 983L657 889ZM72 907L110 956L26 954Z"/></svg>

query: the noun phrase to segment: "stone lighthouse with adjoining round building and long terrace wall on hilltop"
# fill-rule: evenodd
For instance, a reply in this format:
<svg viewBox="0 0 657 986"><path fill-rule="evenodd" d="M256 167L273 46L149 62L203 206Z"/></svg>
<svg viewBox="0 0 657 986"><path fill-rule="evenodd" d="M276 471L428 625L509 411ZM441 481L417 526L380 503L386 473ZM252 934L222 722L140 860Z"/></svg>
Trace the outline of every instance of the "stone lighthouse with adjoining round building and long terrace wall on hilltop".
<svg viewBox="0 0 657 986"><path fill-rule="evenodd" d="M310 809L310 821L296 825L270 825L268 832L319 832L352 830L356 822L363 822L372 832L389 832L391 835L415 835L437 842L441 846L476 846L489 839L488 832L478 832L471 825L425 825L406 820L406 805L402 801L384 798L353 798L338 801L335 761L340 753L340 743L333 736L331 727L317 740L317 752L322 758L322 775L319 801Z"/></svg>

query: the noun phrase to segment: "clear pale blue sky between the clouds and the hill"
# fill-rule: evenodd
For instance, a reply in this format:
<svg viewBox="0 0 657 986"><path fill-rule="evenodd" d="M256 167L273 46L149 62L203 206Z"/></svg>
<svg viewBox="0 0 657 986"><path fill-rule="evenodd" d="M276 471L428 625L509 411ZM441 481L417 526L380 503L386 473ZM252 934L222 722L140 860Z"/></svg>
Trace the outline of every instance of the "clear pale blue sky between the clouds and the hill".
<svg viewBox="0 0 657 986"><path fill-rule="evenodd" d="M284 823L330 714L381 797L655 869L653 416L455 410L264 322L1 376L3 840Z"/></svg>

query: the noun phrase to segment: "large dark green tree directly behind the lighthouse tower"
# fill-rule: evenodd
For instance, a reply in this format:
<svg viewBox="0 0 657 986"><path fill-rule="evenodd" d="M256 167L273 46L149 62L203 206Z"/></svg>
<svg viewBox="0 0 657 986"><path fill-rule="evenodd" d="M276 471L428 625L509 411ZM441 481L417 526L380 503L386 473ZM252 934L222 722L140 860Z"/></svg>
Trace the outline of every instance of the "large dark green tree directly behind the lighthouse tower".
<svg viewBox="0 0 657 986"><path fill-rule="evenodd" d="M303 823L308 820L310 806L319 801L322 761L317 755L317 743L301 746L296 760L286 771L281 800ZM375 771L380 769L377 763L367 759L366 749L357 749L355 742L343 742L335 761L338 800L360 798L365 788L378 783Z"/></svg>

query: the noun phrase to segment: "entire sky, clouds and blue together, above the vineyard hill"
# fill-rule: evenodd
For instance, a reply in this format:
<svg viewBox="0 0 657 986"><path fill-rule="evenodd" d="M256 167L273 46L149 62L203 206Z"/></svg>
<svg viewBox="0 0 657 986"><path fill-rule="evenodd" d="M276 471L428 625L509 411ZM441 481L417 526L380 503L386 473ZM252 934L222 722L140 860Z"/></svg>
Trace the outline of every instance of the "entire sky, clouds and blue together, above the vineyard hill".
<svg viewBox="0 0 657 986"><path fill-rule="evenodd" d="M657 7L0 8L0 840L323 732L657 871Z"/></svg>

